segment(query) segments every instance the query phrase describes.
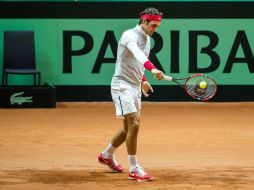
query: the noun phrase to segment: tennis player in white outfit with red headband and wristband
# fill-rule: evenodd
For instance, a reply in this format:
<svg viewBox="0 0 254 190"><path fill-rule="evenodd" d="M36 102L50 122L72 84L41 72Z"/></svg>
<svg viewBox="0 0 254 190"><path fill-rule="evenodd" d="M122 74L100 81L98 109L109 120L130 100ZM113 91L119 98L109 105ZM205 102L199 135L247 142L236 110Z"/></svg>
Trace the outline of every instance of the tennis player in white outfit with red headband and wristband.
<svg viewBox="0 0 254 190"><path fill-rule="evenodd" d="M111 94L117 117L123 118L121 128L112 138L106 149L98 156L101 164L107 165L114 172L122 172L123 167L117 163L115 150L126 141L130 162L129 179L151 181L140 167L137 160L137 136L140 126L141 91L147 97L153 89L144 75L145 69L152 72L154 78L161 80L162 71L149 61L150 36L161 24L162 13L155 8L147 8L140 13L139 24L125 31L118 43L115 74L111 82Z"/></svg>

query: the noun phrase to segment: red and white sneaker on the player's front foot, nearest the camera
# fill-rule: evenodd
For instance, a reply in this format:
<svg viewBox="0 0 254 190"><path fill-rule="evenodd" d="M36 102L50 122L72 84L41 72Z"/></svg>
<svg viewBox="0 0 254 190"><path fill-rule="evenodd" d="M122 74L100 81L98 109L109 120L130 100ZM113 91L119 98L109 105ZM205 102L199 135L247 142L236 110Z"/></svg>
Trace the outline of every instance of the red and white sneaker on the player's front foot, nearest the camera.
<svg viewBox="0 0 254 190"><path fill-rule="evenodd" d="M132 171L129 172L128 179L137 181L152 181L154 178L148 175L143 168L137 166Z"/></svg>

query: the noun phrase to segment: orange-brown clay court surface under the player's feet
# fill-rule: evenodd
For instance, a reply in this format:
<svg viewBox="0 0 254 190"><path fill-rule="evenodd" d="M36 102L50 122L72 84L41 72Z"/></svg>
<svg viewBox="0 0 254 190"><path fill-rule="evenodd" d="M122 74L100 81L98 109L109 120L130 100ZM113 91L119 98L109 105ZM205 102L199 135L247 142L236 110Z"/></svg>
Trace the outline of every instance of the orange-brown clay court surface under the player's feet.
<svg viewBox="0 0 254 190"><path fill-rule="evenodd" d="M254 189L254 103L143 103L138 157L155 177L127 179L97 156L122 121L109 103L0 109L0 189Z"/></svg>

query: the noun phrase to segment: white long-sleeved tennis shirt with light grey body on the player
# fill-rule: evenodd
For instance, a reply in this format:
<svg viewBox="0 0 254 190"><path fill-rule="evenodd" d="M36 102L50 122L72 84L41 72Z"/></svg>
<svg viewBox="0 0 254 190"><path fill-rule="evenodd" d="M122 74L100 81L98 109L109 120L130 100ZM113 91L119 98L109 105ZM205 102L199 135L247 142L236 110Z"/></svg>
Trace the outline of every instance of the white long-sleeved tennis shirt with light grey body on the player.
<svg viewBox="0 0 254 190"><path fill-rule="evenodd" d="M139 25L126 30L118 43L115 74L112 84L127 82L140 87L144 63L150 53L150 36Z"/></svg>

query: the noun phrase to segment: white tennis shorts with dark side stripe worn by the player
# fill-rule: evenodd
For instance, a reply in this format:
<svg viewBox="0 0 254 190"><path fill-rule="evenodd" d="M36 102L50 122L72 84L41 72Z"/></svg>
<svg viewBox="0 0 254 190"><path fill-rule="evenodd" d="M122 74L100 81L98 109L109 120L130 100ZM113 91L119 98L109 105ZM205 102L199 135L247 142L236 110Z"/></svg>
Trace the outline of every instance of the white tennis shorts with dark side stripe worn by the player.
<svg viewBox="0 0 254 190"><path fill-rule="evenodd" d="M123 82L111 84L111 95L116 108L116 116L122 118L141 109L141 87Z"/></svg>

